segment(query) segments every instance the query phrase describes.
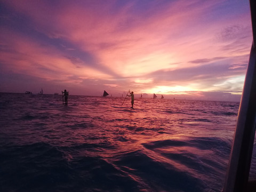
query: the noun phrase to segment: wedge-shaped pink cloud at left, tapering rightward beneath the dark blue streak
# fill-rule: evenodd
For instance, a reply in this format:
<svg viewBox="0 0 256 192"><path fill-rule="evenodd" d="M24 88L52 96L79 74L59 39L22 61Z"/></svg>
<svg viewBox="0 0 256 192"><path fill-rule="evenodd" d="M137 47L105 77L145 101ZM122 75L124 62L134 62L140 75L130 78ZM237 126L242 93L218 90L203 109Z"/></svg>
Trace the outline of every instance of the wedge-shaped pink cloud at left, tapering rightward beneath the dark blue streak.
<svg viewBox="0 0 256 192"><path fill-rule="evenodd" d="M5 71L40 77L46 81L59 79L70 82L69 77L73 75L79 76L80 81L85 78L111 77L88 66L77 67L73 60L65 57L54 46L45 46L10 30L2 29L1 32L2 46L5 46L6 51L0 52L0 55L1 62L5 63Z"/></svg>

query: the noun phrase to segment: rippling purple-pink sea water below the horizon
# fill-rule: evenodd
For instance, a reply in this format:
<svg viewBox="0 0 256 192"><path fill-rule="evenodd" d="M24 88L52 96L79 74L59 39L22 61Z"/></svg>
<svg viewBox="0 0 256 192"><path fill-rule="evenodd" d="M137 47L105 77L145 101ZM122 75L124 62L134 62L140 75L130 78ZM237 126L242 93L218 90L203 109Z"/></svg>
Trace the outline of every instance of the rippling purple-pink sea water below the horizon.
<svg viewBox="0 0 256 192"><path fill-rule="evenodd" d="M0 191L221 191L239 103L129 99L0 93Z"/></svg>

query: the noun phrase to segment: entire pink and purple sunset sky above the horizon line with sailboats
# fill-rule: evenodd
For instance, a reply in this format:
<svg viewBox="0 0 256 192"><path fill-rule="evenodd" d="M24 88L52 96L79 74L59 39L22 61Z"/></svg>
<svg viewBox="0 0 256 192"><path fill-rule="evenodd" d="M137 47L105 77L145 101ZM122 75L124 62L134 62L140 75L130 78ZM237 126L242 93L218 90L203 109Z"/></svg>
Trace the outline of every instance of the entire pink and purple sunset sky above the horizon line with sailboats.
<svg viewBox="0 0 256 192"><path fill-rule="evenodd" d="M0 92L241 98L249 1L1 0L0 15Z"/></svg>

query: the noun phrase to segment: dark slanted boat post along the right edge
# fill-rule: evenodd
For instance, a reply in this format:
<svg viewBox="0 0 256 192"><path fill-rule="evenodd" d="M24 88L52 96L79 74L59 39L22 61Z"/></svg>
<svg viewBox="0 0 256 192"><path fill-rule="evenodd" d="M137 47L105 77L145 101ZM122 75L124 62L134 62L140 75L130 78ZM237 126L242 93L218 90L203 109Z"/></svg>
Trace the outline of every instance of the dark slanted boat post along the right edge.
<svg viewBox="0 0 256 192"><path fill-rule="evenodd" d="M256 127L256 1L250 0L253 43L223 192L246 191Z"/></svg>

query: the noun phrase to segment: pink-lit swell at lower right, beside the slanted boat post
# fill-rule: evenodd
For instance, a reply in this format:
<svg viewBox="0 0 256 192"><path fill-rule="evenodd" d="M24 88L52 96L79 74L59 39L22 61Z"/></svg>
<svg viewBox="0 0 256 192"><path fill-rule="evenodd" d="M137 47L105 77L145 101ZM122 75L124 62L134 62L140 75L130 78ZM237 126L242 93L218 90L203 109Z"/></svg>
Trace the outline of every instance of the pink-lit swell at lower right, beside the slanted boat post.
<svg viewBox="0 0 256 192"><path fill-rule="evenodd" d="M212 178L219 180L218 187L221 188L223 180L220 178L225 177L223 167L227 166L225 159L228 159L230 153L229 141L214 137L198 137L186 141L153 141L142 143L142 146L154 151L158 159L167 158L165 161L178 167L179 172L186 171L191 177L201 180L201 185L207 186L205 189L217 187ZM216 161L216 158L219 161ZM190 190L187 189L187 191Z"/></svg>

